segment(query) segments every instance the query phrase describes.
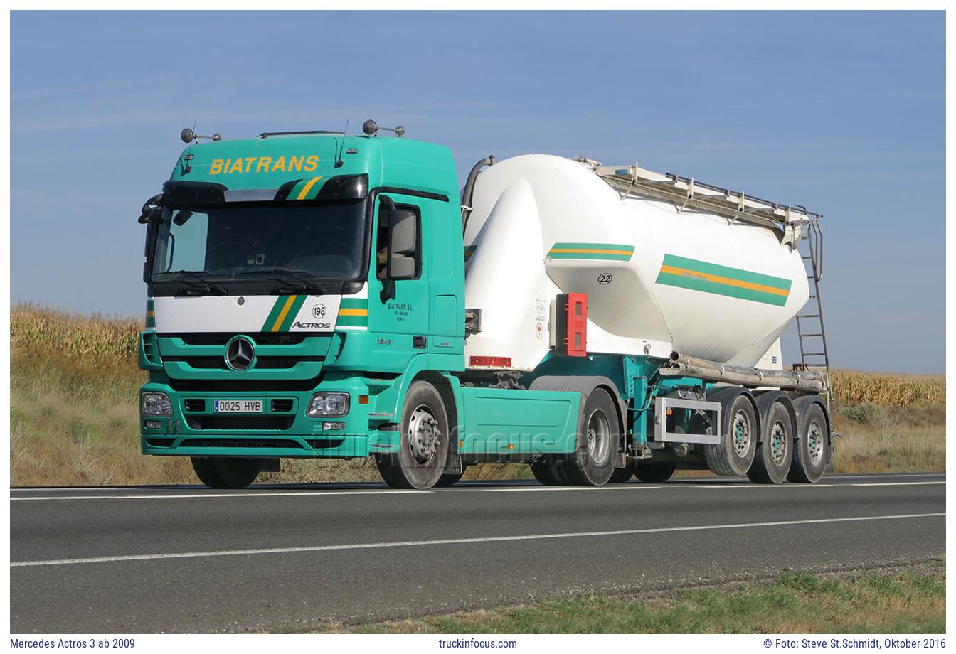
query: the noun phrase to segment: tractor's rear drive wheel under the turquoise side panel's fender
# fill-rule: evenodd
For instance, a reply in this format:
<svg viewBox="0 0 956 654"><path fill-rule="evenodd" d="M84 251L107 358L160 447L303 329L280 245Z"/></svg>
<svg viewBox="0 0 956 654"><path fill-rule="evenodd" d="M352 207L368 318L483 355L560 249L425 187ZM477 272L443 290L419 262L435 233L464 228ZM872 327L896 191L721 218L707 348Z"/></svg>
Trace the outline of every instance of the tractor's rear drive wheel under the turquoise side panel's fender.
<svg viewBox="0 0 956 654"><path fill-rule="evenodd" d="M577 447L568 456L564 474L576 486L603 486L614 474L620 442L618 411L606 390L588 395L577 418Z"/></svg>

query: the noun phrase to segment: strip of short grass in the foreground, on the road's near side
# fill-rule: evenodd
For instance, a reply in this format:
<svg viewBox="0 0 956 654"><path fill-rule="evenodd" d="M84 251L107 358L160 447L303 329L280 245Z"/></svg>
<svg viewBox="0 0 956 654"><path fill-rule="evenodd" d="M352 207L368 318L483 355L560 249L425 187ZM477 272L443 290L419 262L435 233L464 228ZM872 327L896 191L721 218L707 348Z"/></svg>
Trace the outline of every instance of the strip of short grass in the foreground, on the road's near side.
<svg viewBox="0 0 956 654"><path fill-rule="evenodd" d="M315 626L283 624L279 632ZM769 583L689 588L658 597L549 599L326 631L385 634L942 634L945 568L852 576L788 572ZM862 640L862 637L858 637ZM839 639L842 643L842 639Z"/></svg>

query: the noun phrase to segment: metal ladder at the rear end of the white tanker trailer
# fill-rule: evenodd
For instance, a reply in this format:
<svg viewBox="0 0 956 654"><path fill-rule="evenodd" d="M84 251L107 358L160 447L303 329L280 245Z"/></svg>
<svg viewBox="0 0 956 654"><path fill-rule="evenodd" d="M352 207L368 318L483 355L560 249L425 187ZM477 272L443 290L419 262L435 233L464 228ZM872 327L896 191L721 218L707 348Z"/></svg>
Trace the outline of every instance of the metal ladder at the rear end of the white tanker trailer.
<svg viewBox="0 0 956 654"><path fill-rule="evenodd" d="M803 208L803 207L799 207ZM829 409L833 390L830 384L830 353L827 350L827 332L823 327L823 302L820 300L820 279L823 277L823 233L818 222L807 223L807 234L797 245L800 259L803 260L810 284L810 298L800 309L806 313L797 313L796 333L800 343L800 364L804 370L822 369L827 378L827 405ZM806 250L806 251L804 251ZM815 311L815 312L814 312Z"/></svg>

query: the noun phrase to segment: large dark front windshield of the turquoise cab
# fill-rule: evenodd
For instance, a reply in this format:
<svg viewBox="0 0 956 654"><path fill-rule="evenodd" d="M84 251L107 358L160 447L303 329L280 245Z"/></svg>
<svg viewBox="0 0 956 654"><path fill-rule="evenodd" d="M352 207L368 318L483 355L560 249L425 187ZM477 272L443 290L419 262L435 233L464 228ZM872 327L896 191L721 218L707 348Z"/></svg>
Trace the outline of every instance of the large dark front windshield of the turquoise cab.
<svg viewBox="0 0 956 654"><path fill-rule="evenodd" d="M359 278L365 234L363 200L304 206L166 207L150 280L184 273L251 281L257 273L350 281ZM196 275L199 273L199 275Z"/></svg>

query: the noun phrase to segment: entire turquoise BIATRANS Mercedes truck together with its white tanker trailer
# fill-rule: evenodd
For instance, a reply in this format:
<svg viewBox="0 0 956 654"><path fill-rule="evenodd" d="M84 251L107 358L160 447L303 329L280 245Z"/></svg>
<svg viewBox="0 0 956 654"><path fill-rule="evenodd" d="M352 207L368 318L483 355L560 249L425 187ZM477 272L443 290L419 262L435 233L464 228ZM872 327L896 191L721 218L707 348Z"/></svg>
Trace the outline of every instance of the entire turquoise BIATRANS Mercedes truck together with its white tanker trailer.
<svg viewBox="0 0 956 654"><path fill-rule="evenodd" d="M371 456L416 489L503 461L554 485L824 473L819 214L550 155L459 192L448 149L384 130L183 131L140 218L143 454L215 488L282 458Z"/></svg>

